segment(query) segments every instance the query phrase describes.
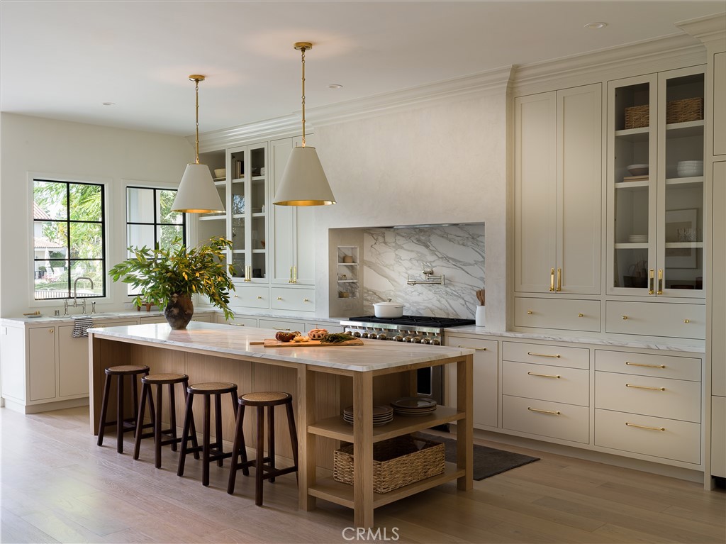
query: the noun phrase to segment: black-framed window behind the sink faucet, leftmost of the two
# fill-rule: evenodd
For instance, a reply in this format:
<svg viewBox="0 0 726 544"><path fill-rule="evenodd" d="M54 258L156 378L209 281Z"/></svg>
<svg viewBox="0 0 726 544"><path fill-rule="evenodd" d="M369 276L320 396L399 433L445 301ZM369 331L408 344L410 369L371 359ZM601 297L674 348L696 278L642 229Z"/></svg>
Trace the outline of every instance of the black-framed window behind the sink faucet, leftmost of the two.
<svg viewBox="0 0 726 544"><path fill-rule="evenodd" d="M104 185L33 179L34 299L106 294Z"/></svg>

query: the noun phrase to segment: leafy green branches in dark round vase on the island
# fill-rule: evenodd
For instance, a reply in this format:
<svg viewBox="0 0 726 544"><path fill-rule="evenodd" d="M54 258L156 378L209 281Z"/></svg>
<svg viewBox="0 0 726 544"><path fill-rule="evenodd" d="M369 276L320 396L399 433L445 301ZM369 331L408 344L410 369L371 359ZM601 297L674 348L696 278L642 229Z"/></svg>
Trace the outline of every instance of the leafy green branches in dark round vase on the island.
<svg viewBox="0 0 726 544"><path fill-rule="evenodd" d="M224 256L231 247L231 240L216 236L191 249L181 243L181 238L175 238L169 248L131 246L129 251L134 256L116 264L109 275L114 281L141 288L134 304L142 306L146 302L163 308L173 329L186 328L192 319L194 294L207 296L229 319L233 316L228 306L229 291L234 291L234 284L224 266Z"/></svg>

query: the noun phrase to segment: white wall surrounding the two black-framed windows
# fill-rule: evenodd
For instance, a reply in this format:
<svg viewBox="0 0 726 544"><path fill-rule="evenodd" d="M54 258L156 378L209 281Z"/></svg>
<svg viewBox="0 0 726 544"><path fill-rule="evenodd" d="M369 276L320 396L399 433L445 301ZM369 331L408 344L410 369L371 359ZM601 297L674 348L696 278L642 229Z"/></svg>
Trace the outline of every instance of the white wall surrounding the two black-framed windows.
<svg viewBox="0 0 726 544"><path fill-rule="evenodd" d="M28 173L68 179L110 180L106 198L109 266L126 258L124 182L179 184L194 150L182 137L111 129L83 123L0 114L0 315L61 307L33 303L30 268L32 202ZM110 280L109 280L110 281ZM126 284L108 283L109 300L99 312L121 309ZM33 306L33 304L37 304ZM46 309L44 309L46 308Z"/></svg>

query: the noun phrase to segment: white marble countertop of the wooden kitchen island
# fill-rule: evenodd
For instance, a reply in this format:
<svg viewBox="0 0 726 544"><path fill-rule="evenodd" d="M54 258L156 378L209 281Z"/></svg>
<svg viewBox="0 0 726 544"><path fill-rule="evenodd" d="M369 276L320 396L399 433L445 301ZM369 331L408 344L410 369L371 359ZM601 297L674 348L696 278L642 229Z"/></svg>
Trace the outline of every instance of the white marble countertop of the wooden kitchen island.
<svg viewBox="0 0 726 544"><path fill-rule="evenodd" d="M418 362L434 362L447 357L473 354L472 349L425 346L363 340L363 346L266 348L250 345L253 341L274 338L275 331L253 327L229 327L217 323L190 322L184 330L172 330L166 323L148 323L120 327L90 328L89 336L120 338L166 344L181 348L202 349L221 354L237 354L259 359L297 362L306 365L371 372Z"/></svg>

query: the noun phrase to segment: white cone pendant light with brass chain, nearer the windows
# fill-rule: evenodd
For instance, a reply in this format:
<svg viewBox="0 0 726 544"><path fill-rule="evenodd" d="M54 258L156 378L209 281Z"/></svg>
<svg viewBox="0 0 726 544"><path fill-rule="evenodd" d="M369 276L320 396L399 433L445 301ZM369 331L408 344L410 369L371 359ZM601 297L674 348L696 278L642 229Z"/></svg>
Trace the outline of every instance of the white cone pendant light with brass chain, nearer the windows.
<svg viewBox="0 0 726 544"><path fill-rule="evenodd" d="M214 186L209 167L199 163L199 82L204 76L189 76L189 81L195 82L197 140L196 162L187 164L184 176L181 176L179 190L176 191L171 211L186 211L189 214L208 214L210 212L224 211L224 204L219 198L219 192Z"/></svg>

